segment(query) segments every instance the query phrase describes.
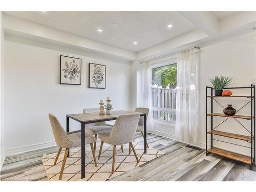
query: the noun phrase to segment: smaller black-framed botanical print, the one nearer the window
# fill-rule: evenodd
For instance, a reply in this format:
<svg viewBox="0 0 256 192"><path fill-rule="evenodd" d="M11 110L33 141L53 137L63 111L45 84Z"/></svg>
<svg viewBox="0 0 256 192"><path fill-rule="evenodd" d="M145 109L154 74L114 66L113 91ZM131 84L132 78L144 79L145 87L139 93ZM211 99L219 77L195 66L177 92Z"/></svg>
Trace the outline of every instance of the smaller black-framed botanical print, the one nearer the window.
<svg viewBox="0 0 256 192"><path fill-rule="evenodd" d="M89 88L106 88L106 66L89 63Z"/></svg>

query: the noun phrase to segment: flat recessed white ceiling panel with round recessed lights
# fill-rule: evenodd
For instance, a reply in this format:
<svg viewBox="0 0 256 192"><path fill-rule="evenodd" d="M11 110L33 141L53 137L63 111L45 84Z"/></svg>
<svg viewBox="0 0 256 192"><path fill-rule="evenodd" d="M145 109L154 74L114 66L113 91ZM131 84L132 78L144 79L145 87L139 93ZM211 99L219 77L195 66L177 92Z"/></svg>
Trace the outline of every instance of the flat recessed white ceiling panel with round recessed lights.
<svg viewBox="0 0 256 192"><path fill-rule="evenodd" d="M195 25L174 11L8 11L5 13L135 52L196 29ZM167 25L173 27L167 28ZM103 32L97 32L98 29L102 29ZM134 41L138 44L134 45Z"/></svg>

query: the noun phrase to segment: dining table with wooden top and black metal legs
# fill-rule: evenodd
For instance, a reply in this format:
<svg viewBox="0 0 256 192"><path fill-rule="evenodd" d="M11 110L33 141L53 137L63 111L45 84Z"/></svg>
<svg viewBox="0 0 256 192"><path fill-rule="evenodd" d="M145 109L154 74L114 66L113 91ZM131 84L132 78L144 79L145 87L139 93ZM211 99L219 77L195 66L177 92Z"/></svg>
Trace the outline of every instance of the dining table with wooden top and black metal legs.
<svg viewBox="0 0 256 192"><path fill-rule="evenodd" d="M80 132L81 132L81 179L86 177L86 141L85 141L85 125L89 123L96 123L102 121L112 121L116 120L121 115L133 115L138 114L139 112L133 111L112 111L110 115L100 115L99 113L79 113L79 114L70 114L67 115L67 133L69 130L69 121L73 119L80 123ZM146 154L146 113L139 113L140 116L144 117L144 154Z"/></svg>

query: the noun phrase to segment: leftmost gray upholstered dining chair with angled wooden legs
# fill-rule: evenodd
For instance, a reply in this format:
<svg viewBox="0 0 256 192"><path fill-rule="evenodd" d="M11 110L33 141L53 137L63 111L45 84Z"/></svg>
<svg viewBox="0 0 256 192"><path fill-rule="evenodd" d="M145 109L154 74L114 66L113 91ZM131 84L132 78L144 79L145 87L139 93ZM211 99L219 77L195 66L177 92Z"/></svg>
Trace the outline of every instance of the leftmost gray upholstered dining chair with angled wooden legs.
<svg viewBox="0 0 256 192"><path fill-rule="evenodd" d="M80 134L80 131L69 132L67 134L65 132L65 130L63 129L63 127L61 126L61 124L59 123L58 119L54 115L49 114L49 119L50 119L50 123L52 126L52 131L53 131L55 142L56 142L57 146L59 147L59 151L55 158L54 165L56 165L56 162L58 160L58 157L59 157L59 154L60 154L62 148L66 148L62 166L61 166L61 170L60 170L60 175L59 175L59 180L61 180L63 170L64 170L64 167L66 164L66 160L67 160L67 157L69 154L69 148L81 146L81 134ZM90 143L90 145L91 145L94 164L95 164L95 167L97 167L97 161L96 161L95 152L94 152L94 148L93 148L93 142L95 142L95 137L86 132L86 144Z"/></svg>

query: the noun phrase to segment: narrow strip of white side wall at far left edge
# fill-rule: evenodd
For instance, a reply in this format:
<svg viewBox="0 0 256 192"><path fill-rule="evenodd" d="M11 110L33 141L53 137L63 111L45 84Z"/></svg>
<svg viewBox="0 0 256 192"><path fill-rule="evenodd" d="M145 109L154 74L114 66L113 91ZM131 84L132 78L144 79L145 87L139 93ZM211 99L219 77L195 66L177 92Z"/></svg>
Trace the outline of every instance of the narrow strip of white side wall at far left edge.
<svg viewBox="0 0 256 192"><path fill-rule="evenodd" d="M4 150L4 45L5 45L5 34L4 34L4 29L3 29L3 14L0 12L0 169L4 163L4 158L5 158L5 150Z"/></svg>

